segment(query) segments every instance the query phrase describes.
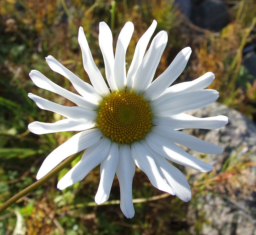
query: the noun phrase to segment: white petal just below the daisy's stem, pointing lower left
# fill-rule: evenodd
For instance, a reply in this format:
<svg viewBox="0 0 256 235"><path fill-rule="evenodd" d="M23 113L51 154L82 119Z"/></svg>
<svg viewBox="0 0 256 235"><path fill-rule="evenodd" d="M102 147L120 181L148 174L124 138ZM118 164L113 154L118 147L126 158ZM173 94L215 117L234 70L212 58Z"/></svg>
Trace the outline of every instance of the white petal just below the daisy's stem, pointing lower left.
<svg viewBox="0 0 256 235"><path fill-rule="evenodd" d="M107 156L111 140L108 137L101 138L96 144L87 148L80 161L63 176L57 188L62 190L81 181L93 168L98 166Z"/></svg>

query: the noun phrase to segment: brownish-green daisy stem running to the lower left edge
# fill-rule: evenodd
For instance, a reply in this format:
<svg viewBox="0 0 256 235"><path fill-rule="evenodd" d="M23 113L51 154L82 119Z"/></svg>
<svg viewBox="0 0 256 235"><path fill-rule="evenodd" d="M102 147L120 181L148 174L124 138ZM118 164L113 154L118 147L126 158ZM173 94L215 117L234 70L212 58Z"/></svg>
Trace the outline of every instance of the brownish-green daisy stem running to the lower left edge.
<svg viewBox="0 0 256 235"><path fill-rule="evenodd" d="M27 188L23 189L13 197L11 197L9 200L7 200L1 207L0 207L0 213L2 213L5 209L12 206L17 200L22 198L23 196L27 195L29 192L32 192L36 188L40 187L42 184L44 184L46 181L51 179L54 175L59 173L62 169L67 167L72 161L74 161L80 153L76 153L70 157L68 157L66 160L61 162L57 167L52 169L46 176L43 178L37 180L35 183L29 185Z"/></svg>

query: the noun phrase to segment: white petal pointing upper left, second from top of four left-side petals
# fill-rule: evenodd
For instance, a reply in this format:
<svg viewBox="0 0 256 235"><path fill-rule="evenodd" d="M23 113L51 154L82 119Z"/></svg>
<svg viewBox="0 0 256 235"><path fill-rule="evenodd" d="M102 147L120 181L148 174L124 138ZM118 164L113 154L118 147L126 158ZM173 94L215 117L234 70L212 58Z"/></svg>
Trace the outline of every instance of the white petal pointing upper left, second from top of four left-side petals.
<svg viewBox="0 0 256 235"><path fill-rule="evenodd" d="M32 70L29 73L29 76L31 80L36 84L36 86L43 88L45 90L52 91L58 95L61 95L70 101L74 102L78 106L82 106L88 109L96 110L98 108L97 102L98 99L93 100L93 102L85 99L82 96L76 95L59 85L55 84L51 80L49 80L47 77L45 77L43 74L41 74L37 70ZM92 97L93 98L93 97Z"/></svg>

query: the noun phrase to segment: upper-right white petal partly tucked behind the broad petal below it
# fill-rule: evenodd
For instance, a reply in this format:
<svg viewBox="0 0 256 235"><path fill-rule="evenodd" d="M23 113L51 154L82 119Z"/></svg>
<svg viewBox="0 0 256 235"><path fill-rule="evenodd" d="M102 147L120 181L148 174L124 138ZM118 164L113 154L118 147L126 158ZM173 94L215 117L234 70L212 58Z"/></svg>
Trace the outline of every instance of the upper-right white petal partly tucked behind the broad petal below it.
<svg viewBox="0 0 256 235"><path fill-rule="evenodd" d="M213 82L214 78L215 76L212 72L207 72L201 77L193 81L180 82L178 84L175 84L167 88L164 91L163 96L166 96L167 94L171 94L175 92L189 92L189 91L203 90Z"/></svg>

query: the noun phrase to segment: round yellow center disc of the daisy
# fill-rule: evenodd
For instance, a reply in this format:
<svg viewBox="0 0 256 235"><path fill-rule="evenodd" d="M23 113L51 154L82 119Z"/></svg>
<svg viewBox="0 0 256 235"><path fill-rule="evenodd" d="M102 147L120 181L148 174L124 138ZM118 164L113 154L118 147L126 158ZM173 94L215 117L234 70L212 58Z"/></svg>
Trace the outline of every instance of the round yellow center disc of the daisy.
<svg viewBox="0 0 256 235"><path fill-rule="evenodd" d="M152 126L148 102L133 92L111 93L98 112L98 128L119 144L143 139Z"/></svg>

